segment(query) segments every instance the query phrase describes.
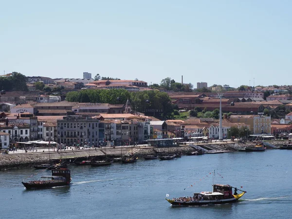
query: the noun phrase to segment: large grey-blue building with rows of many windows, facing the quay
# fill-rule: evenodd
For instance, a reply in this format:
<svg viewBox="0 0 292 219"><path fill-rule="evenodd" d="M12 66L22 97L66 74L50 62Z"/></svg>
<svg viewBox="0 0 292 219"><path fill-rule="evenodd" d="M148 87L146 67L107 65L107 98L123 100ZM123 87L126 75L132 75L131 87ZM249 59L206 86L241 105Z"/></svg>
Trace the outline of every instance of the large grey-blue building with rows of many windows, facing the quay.
<svg viewBox="0 0 292 219"><path fill-rule="evenodd" d="M104 142L105 123L89 116L64 116L57 120L57 143L66 146L97 146Z"/></svg>

